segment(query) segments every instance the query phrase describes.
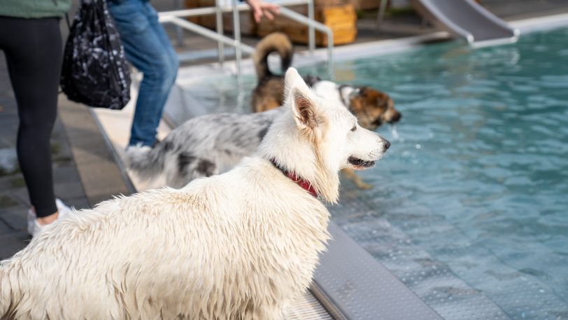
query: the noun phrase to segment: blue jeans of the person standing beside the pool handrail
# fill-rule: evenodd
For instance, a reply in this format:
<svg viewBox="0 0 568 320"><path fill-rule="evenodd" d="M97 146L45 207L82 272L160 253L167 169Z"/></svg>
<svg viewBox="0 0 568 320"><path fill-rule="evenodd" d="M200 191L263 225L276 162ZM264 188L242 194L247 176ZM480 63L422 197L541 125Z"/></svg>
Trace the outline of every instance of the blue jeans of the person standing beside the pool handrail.
<svg viewBox="0 0 568 320"><path fill-rule="evenodd" d="M164 105L176 81L178 57L148 1L108 1L108 11L115 21L127 59L144 75L129 146L152 146Z"/></svg>

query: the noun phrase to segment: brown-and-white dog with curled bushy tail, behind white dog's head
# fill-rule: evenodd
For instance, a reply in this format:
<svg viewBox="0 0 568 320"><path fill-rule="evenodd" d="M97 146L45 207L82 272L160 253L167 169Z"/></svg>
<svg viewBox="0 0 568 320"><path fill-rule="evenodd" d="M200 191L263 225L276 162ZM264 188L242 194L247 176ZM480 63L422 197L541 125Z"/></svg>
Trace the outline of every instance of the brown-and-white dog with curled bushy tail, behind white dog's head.
<svg viewBox="0 0 568 320"><path fill-rule="evenodd" d="M273 74L268 66L268 56L278 53L281 57L281 70L286 71L292 64L292 43L283 33L275 32L265 36L256 47L253 60L258 83L253 90L251 104L253 111L262 112L278 108L284 101L284 77ZM339 85L332 81L322 81L317 76L306 76L304 81L317 95L339 101L357 116L362 127L376 130L383 123L396 123L401 114L395 109L392 99L384 92L370 87ZM371 188L350 171L344 172L359 188Z"/></svg>

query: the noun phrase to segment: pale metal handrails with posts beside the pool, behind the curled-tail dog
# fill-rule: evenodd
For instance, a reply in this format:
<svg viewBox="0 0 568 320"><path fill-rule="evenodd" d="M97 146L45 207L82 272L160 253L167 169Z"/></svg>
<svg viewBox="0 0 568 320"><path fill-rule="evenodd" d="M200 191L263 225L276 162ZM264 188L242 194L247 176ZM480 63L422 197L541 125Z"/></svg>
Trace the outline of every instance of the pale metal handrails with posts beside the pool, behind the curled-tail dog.
<svg viewBox="0 0 568 320"><path fill-rule="evenodd" d="M183 29L190 30L206 38L213 39L218 42L218 52L219 52L219 62L225 60L225 53L223 52L223 43L235 48L236 53L236 73L237 78L241 80L241 55L242 52L252 54L255 49L253 47L247 46L241 42L241 31L239 23L239 11L250 10L250 7L246 4L236 4L236 0L232 0L232 6L221 6L219 1L215 1L215 7L205 7L205 8L191 8L176 11L163 11L159 13L159 22L171 22L176 26L182 27ZM313 54L315 50L315 29L323 32L327 36L327 68L329 76L332 76L333 69L333 32L326 25L313 20L313 0L285 0L285 1L273 1L272 3L281 6L280 14L299 22L301 24L308 26L308 46L310 52ZM308 17L296 13L288 8L284 8L283 5L294 5L294 4L308 4ZM224 12L233 12L233 23L234 23L234 37L231 39L222 34L222 18L221 14ZM189 22L187 20L181 19L185 17L193 17L198 15L216 15L216 29L217 32L212 32L211 30L201 27L195 23Z"/></svg>

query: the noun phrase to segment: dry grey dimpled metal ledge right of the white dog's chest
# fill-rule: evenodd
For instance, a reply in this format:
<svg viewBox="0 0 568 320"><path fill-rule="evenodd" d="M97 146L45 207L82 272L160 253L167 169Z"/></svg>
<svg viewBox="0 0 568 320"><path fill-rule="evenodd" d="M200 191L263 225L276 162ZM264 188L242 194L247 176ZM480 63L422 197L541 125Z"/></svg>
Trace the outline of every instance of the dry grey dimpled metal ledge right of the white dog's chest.
<svg viewBox="0 0 568 320"><path fill-rule="evenodd" d="M360 320L441 320L418 296L364 251L335 223L328 251L315 272L315 295L332 314ZM322 300L322 299L320 299Z"/></svg>

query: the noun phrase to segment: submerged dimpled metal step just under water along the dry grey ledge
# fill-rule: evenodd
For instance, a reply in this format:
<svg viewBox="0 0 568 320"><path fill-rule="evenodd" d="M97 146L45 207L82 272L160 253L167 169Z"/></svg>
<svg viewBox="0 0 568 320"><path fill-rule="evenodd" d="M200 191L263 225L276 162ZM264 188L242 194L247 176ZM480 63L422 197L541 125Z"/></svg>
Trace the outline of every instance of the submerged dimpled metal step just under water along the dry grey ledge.
<svg viewBox="0 0 568 320"><path fill-rule="evenodd" d="M384 216L377 218L377 208L372 199L346 193L330 211L341 230L444 320L510 319L483 291L456 277L454 270L418 246L404 231ZM417 219L406 217L405 221Z"/></svg>

